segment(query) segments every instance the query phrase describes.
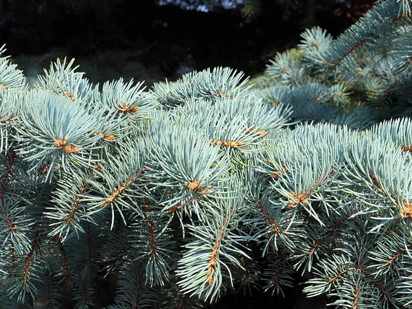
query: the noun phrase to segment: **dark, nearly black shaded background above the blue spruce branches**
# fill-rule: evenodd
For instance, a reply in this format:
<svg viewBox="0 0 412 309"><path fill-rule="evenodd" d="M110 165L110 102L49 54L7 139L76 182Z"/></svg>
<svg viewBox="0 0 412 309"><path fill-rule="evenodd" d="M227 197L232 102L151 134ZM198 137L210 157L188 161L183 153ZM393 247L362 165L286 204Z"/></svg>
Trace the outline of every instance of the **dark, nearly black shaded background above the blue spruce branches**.
<svg viewBox="0 0 412 309"><path fill-rule="evenodd" d="M216 66L255 76L276 52L299 43L306 27L319 25L337 36L374 2L286 0L278 5L277 0L254 0L260 14L248 23L241 5L185 10L185 3L196 7L202 1L219 2L0 0L0 44L6 43L7 54L34 76L63 56L78 59L93 82L124 76L150 84Z"/></svg>

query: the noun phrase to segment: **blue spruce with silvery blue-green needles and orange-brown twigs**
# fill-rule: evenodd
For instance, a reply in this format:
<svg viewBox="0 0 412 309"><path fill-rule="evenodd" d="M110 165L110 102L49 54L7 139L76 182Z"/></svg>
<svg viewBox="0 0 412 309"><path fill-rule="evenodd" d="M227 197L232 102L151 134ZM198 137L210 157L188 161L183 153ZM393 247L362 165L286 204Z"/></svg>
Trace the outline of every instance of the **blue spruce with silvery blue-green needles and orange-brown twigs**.
<svg viewBox="0 0 412 309"><path fill-rule="evenodd" d="M317 308L409 308L410 5L306 30L253 82L100 91L57 60L27 89L0 58L0 308L201 308L295 273Z"/></svg>

